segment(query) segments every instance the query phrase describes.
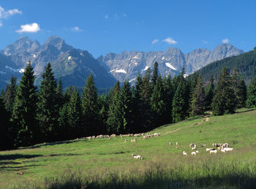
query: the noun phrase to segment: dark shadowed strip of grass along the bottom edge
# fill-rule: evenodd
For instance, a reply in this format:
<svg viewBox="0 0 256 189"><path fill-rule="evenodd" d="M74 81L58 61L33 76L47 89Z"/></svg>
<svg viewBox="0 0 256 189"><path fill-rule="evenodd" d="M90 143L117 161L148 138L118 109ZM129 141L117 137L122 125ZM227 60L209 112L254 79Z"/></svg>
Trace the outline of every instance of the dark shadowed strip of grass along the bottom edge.
<svg viewBox="0 0 256 189"><path fill-rule="evenodd" d="M157 175L155 175L157 176ZM45 185L39 188L255 188L256 177L243 175L230 175L226 177L202 177L195 180L172 180L167 177L152 177L146 175L140 180L119 180L116 177L106 180L86 181L80 177L72 177L69 180L45 180ZM164 175L162 175L164 176Z"/></svg>

